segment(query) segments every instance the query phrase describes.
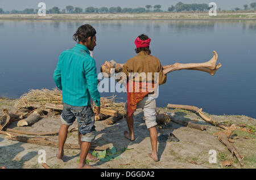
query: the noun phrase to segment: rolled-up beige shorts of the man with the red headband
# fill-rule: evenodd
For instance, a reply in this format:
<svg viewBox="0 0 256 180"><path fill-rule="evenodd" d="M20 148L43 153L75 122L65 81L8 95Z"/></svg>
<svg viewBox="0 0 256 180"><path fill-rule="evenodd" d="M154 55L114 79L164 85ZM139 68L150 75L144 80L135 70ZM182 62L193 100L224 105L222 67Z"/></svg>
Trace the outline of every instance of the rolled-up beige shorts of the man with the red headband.
<svg viewBox="0 0 256 180"><path fill-rule="evenodd" d="M147 128L158 125L158 123L156 123L156 102L154 98L144 97L143 100L139 101L137 104L136 109L140 108L143 110ZM125 109L127 111L127 102Z"/></svg>

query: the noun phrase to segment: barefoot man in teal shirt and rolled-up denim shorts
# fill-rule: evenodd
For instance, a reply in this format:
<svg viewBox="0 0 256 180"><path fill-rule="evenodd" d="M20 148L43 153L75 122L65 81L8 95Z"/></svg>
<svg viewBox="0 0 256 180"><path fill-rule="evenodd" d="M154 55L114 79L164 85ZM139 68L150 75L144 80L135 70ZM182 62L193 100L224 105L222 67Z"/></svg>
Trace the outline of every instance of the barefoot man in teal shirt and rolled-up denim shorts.
<svg viewBox="0 0 256 180"><path fill-rule="evenodd" d="M100 113L100 93L95 61L90 57L89 50L96 46L96 30L89 24L82 25L73 35L76 46L60 54L59 62L53 79L62 90L63 112L59 132L59 150L57 158L64 155L64 144L67 139L68 127L75 119L79 124L79 143L81 147L80 162L77 168L92 168L86 165L86 157L90 155L90 143L96 136L94 113L90 106L90 97L96 104L96 114Z"/></svg>

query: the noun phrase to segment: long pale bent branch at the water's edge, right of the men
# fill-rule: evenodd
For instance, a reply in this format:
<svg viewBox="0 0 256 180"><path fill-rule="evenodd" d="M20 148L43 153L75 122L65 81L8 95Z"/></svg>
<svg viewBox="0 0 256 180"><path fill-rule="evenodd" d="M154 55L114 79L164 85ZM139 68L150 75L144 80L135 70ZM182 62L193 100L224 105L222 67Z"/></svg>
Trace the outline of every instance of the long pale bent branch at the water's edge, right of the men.
<svg viewBox="0 0 256 180"><path fill-rule="evenodd" d="M221 128L224 128L225 130L228 128L226 127L225 125L222 125L216 121L214 121L212 118L210 117L207 117L207 115L205 115L203 112L202 112L202 108L199 109L197 108L196 106L188 106L188 105L177 105L177 104L168 104L167 105L167 108L171 108L171 109L185 109L185 110L191 110L193 112L196 112L200 115L201 118L204 119L204 121L214 125L214 126L217 126L217 127L221 127Z"/></svg>

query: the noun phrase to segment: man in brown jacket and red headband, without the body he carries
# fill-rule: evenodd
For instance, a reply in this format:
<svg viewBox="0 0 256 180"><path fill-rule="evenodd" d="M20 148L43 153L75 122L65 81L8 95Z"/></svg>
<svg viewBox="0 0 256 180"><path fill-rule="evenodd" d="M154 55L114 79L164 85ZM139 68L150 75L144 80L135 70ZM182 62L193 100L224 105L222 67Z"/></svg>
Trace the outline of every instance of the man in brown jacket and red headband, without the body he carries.
<svg viewBox="0 0 256 180"><path fill-rule="evenodd" d="M154 161L158 161L158 153L156 150L157 143L157 130L156 130L156 102L154 92L148 91L148 87L151 89L157 89L160 84L166 83L166 74L163 73L162 65L158 58L150 55L149 49L150 38L146 35L141 35L135 40L135 49L137 55L129 59L125 65L123 65L122 72L129 77L127 84L127 115L126 121L129 128L129 132L124 131L123 134L127 139L134 140L133 131L133 113L136 109L142 108L145 122L148 130L150 131L150 141L152 145L152 152L148 154ZM136 72L138 72L137 75ZM131 74L133 76L131 76ZM139 75L139 77L138 77ZM158 76L158 77L155 77ZM138 78L139 79L138 79ZM155 80L158 79L158 80ZM143 82L146 82L147 89L143 92ZM129 90L131 84L134 83L133 89ZM134 91L136 85L139 85L139 91Z"/></svg>

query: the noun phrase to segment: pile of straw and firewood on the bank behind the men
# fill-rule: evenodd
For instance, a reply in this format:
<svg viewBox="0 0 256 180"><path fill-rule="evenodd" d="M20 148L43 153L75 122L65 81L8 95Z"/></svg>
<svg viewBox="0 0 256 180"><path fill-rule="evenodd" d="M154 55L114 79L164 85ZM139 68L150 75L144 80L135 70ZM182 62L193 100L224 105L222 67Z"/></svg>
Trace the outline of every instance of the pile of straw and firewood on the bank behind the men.
<svg viewBox="0 0 256 180"><path fill-rule="evenodd" d="M107 125L112 125L125 117L125 103L115 102L116 99L116 96L101 97L101 111L95 116L96 121L106 120ZM15 108L27 114L37 112L42 116L56 117L63 110L62 94L58 89L32 89L15 102ZM95 112L95 109L93 110ZM37 116L34 118L37 119Z"/></svg>

